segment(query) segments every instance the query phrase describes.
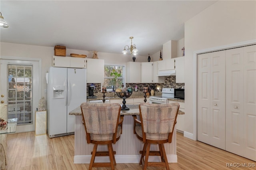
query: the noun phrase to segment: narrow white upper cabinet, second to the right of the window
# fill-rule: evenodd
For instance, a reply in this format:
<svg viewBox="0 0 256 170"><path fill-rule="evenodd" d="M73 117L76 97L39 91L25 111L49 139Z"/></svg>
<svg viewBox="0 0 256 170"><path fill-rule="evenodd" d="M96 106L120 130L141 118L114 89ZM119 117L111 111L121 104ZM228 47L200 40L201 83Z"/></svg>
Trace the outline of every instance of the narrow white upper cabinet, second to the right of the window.
<svg viewBox="0 0 256 170"><path fill-rule="evenodd" d="M153 82L153 62L141 63L141 83Z"/></svg>

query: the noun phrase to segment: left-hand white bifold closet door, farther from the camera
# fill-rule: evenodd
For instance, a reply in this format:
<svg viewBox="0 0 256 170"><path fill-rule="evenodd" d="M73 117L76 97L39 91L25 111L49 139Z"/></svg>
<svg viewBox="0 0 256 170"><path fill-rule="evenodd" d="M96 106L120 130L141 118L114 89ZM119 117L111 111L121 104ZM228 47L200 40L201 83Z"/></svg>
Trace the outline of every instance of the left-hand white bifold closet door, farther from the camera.
<svg viewBox="0 0 256 170"><path fill-rule="evenodd" d="M198 140L225 149L225 51L198 55Z"/></svg>

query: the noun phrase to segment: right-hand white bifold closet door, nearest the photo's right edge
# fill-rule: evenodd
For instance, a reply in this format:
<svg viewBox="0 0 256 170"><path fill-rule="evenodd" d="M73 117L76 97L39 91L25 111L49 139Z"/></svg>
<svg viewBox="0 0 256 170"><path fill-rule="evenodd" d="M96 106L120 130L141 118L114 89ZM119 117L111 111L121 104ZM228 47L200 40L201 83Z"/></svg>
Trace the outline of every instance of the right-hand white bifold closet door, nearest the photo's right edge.
<svg viewBox="0 0 256 170"><path fill-rule="evenodd" d="M256 45L226 50L226 150L256 161Z"/></svg>

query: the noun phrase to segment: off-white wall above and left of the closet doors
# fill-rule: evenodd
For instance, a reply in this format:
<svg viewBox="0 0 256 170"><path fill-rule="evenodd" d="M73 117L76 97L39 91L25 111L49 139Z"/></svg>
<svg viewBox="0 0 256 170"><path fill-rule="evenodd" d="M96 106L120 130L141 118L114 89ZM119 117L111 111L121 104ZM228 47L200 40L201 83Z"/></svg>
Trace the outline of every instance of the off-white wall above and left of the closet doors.
<svg viewBox="0 0 256 170"><path fill-rule="evenodd" d="M185 22L185 132L196 139L193 122L194 51L256 40L256 1L217 1ZM195 73L195 74L194 74ZM196 114L196 113L195 113ZM194 128L193 128L194 127Z"/></svg>

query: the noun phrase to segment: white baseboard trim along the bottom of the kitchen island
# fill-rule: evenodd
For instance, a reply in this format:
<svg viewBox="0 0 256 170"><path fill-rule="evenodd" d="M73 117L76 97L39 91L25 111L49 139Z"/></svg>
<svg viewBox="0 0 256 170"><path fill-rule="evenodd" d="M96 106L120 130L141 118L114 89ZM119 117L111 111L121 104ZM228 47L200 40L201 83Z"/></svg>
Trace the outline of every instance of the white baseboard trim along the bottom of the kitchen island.
<svg viewBox="0 0 256 170"><path fill-rule="evenodd" d="M166 155L169 163L178 162L176 154ZM128 163L139 163L140 155L115 155L116 163L128 164ZM90 164L91 155L76 155L74 156L74 164ZM150 156L148 158L150 162L160 162L159 156ZM108 156L100 156L95 158L95 162L110 162Z"/></svg>

